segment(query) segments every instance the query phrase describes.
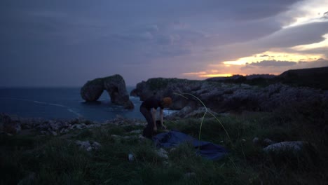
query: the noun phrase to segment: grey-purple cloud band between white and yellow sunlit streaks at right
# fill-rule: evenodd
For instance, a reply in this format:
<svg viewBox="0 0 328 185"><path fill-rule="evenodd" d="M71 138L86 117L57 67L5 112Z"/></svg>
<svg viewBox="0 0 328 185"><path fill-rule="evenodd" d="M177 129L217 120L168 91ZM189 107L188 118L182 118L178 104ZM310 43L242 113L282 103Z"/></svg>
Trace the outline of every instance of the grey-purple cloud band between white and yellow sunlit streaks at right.
<svg viewBox="0 0 328 185"><path fill-rule="evenodd" d="M317 43L324 40L324 34L328 33L328 22L313 22L305 25L280 29L273 34L253 39L241 43L218 46L207 52L212 58L219 58L221 62L226 60L238 60L240 57L251 56L264 53L269 50L279 48L280 52L324 54L327 56L327 47L309 50L292 50L289 47L310 43Z"/></svg>

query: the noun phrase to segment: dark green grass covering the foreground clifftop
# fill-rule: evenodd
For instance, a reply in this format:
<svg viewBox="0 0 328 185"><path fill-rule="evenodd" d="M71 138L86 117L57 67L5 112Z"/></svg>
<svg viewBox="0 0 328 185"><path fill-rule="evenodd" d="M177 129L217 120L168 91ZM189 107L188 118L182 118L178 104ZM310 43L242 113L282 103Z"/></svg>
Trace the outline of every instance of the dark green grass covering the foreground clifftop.
<svg viewBox="0 0 328 185"><path fill-rule="evenodd" d="M74 136L65 139L1 135L0 165L5 170L0 184L326 184L327 134L313 124L322 121L289 113L166 121L168 128L196 138L202 124L202 140L230 151L228 156L215 161L196 156L189 144L168 150L165 160L156 155L149 139L111 137L131 136L130 131L142 129L135 125L74 130ZM288 152L276 155L264 153L263 146L253 144L254 137L276 142L303 140L311 145L297 155ZM84 151L74 144L76 140L99 142L102 147L98 151ZM132 162L128 160L129 153L135 157Z"/></svg>

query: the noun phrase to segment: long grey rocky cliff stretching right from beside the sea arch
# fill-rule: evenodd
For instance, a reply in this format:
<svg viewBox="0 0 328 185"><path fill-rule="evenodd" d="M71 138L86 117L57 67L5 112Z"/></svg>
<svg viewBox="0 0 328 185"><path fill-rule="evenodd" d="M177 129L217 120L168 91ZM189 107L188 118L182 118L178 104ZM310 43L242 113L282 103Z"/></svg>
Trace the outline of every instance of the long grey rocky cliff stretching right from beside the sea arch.
<svg viewBox="0 0 328 185"><path fill-rule="evenodd" d="M306 87L292 87L274 83L266 87L218 81L190 81L177 78L150 78L137 84L133 94L145 100L156 94L170 96L171 109L182 109L185 117L193 110L203 107L215 112L274 111L279 107L299 107L300 111L321 106L328 109L328 91ZM199 100L201 101L199 101ZM186 112L188 111L188 112ZM305 113L306 114L306 113ZM328 114L328 111L327 111Z"/></svg>

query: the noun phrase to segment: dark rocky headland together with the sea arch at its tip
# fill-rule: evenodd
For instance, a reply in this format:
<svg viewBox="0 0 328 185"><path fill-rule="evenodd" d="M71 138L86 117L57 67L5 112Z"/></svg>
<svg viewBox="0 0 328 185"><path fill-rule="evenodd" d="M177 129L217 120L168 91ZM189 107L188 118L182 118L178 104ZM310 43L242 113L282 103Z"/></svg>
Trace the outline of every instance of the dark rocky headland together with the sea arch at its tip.
<svg viewBox="0 0 328 185"><path fill-rule="evenodd" d="M242 111L274 111L283 104L315 106L328 101L328 67L292 69L275 76L253 74L248 76L214 77L205 80L181 78L149 78L137 83L130 96L170 96L171 109L180 110L179 116L197 111L203 104L217 113ZM128 98L121 75L96 78L81 88L81 97L87 102L97 100L107 90L111 102L125 109L134 106ZM195 98L197 97L197 98Z"/></svg>

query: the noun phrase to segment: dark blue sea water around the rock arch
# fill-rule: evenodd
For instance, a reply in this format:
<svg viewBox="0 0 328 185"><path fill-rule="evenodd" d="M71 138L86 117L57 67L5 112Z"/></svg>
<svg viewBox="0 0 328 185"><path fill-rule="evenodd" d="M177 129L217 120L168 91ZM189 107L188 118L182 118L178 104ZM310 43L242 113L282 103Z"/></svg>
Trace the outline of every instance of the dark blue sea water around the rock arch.
<svg viewBox="0 0 328 185"><path fill-rule="evenodd" d="M130 93L132 87L128 88ZM97 103L86 103L80 88L0 88L0 112L21 117L77 118L105 121L116 115L144 119L139 112L139 97L130 97L135 109L111 104L106 91Z"/></svg>

